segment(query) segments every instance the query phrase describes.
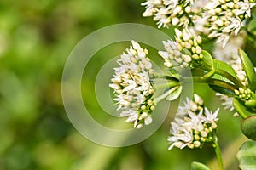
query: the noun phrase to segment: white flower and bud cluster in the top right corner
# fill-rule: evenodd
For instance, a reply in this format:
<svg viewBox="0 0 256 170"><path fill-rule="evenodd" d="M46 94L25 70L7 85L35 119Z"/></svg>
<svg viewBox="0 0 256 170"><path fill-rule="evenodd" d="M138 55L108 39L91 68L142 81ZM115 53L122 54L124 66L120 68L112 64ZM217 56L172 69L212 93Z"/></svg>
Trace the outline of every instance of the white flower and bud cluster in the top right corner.
<svg viewBox="0 0 256 170"><path fill-rule="evenodd" d="M223 47L230 39L230 34L235 35L241 30L242 21L251 16L250 9L255 3L248 0L211 0L204 8L201 20L205 22L208 37L218 37L217 42L222 42Z"/></svg>

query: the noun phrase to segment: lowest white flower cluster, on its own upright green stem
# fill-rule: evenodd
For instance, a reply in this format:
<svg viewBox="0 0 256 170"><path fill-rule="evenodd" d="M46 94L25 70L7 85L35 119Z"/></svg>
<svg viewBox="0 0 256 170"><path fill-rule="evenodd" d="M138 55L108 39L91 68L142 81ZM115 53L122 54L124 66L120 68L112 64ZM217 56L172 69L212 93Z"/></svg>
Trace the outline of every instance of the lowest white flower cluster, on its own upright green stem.
<svg viewBox="0 0 256 170"><path fill-rule="evenodd" d="M194 100L187 98L184 106L179 106L171 122L171 136L167 139L171 143L169 150L174 146L201 148L203 144L214 141L219 109L212 113L203 103L201 97L194 94Z"/></svg>

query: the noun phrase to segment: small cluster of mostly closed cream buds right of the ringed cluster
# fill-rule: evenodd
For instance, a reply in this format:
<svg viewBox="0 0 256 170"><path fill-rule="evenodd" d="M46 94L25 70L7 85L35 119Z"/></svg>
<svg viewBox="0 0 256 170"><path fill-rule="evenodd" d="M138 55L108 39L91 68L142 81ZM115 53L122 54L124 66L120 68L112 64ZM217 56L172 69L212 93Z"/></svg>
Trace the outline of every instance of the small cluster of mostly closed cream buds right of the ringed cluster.
<svg viewBox="0 0 256 170"><path fill-rule="evenodd" d="M160 56L165 59L167 67L180 66L191 67L201 65L201 37L196 36L188 28L179 31L175 29L176 41L163 42L166 51L159 51Z"/></svg>

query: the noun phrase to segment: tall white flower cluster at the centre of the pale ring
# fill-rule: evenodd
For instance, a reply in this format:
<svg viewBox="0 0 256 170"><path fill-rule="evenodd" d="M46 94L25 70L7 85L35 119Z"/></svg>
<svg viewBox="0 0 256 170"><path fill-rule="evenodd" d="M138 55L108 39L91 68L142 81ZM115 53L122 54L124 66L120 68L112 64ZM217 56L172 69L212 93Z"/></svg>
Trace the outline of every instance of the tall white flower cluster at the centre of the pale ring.
<svg viewBox="0 0 256 170"><path fill-rule="evenodd" d="M122 111L120 116L128 117L126 122L134 123L137 128L152 122L150 113L155 105L154 88L150 82L154 70L147 55L146 48L131 41L131 47L117 60L119 67L114 68L113 83L109 85L114 90L117 110Z"/></svg>

